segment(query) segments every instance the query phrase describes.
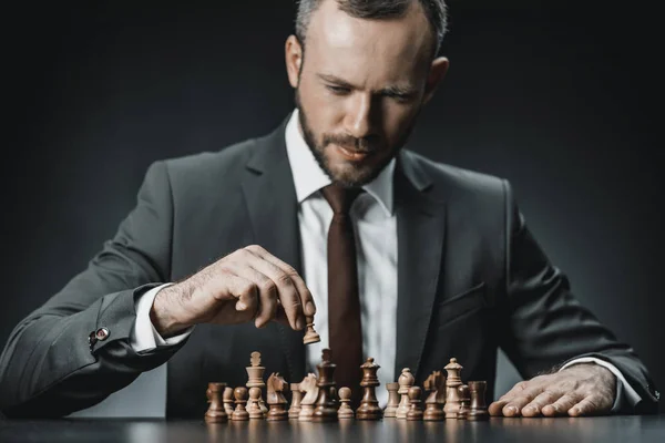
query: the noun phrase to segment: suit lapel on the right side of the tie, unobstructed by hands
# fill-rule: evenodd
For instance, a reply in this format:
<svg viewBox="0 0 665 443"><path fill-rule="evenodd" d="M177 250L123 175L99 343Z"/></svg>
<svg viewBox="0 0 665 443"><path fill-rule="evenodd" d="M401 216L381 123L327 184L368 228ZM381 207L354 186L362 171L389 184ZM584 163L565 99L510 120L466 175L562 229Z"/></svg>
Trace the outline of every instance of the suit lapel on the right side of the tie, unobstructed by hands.
<svg viewBox="0 0 665 443"><path fill-rule="evenodd" d="M446 209L427 190L429 176L409 152L398 157L395 203L398 235L396 377L418 377L436 299L446 233Z"/></svg>

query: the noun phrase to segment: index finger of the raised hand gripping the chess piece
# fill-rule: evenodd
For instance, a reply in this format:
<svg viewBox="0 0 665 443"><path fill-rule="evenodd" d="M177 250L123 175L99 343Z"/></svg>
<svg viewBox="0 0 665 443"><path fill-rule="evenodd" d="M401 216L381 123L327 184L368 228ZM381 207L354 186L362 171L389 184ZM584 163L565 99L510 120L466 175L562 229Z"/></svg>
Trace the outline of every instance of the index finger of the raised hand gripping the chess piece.
<svg viewBox="0 0 665 443"><path fill-rule="evenodd" d="M305 328L306 323L303 313L303 302L291 276L272 261L268 261L268 259L257 256L250 250L247 251L247 254L254 257L249 258L248 265L274 281L277 289L276 296L284 307L291 328L295 330Z"/></svg>

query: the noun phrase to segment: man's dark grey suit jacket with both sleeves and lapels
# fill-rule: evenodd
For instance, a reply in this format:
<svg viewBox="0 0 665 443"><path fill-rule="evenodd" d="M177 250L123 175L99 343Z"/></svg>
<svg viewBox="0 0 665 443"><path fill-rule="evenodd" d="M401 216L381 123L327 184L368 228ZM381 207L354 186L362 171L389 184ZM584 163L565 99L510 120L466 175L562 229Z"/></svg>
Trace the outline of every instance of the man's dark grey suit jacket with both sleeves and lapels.
<svg viewBox="0 0 665 443"><path fill-rule="evenodd" d="M285 124L219 152L151 165L115 237L13 330L0 358L0 409L9 416L64 415L167 361L167 416L201 418L207 382L244 385L255 350L267 371L301 380L303 332L278 323L201 324L181 346L141 356L129 344L137 296L238 248L262 245L300 270L284 131ZM574 299L507 181L402 151L395 202L396 373L411 368L421 384L457 357L462 379L487 380L491 395L499 347L524 378L593 356L616 365L642 396L635 411L656 410L646 369ZM100 328L109 337L89 341Z"/></svg>

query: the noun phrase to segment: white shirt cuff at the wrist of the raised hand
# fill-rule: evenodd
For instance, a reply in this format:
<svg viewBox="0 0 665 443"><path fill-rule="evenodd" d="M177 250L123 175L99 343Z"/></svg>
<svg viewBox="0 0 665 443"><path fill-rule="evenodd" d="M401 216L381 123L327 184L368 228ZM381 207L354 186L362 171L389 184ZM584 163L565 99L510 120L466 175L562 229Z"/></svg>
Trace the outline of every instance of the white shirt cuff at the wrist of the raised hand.
<svg viewBox="0 0 665 443"><path fill-rule="evenodd" d="M146 352L152 351L156 348L174 346L186 339L194 327L186 329L183 333L180 333L167 339L162 338L160 332L155 329L154 324L150 320L150 310L152 309L153 301L157 296L157 292L163 288L166 288L173 284L164 284L152 288L141 297L136 299L136 321L130 332L130 346L134 352Z"/></svg>

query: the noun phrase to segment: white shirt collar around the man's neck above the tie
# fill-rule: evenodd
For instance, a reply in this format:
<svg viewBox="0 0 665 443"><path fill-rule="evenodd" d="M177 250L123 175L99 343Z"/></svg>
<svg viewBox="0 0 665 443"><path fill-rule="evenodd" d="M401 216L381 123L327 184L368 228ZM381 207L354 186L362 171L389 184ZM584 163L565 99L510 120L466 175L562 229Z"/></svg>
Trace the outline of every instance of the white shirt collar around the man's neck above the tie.
<svg viewBox="0 0 665 443"><path fill-rule="evenodd" d="M298 126L298 110L296 109L286 125L285 136L286 153L294 176L296 197L298 204L301 204L317 190L328 186L331 181L317 163ZM362 186L362 189L381 205L388 216L392 215L393 175L395 158L383 167L374 181Z"/></svg>

